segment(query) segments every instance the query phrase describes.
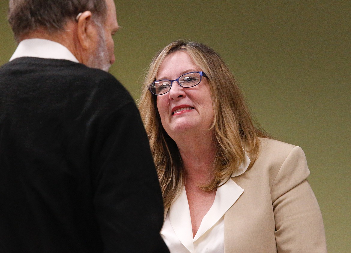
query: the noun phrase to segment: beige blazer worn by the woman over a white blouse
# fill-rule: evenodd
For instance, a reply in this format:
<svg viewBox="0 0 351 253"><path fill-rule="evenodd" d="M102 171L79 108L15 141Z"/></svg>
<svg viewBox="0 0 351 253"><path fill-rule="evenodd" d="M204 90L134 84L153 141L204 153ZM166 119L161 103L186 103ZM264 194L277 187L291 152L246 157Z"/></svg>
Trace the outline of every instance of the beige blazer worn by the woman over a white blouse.
<svg viewBox="0 0 351 253"><path fill-rule="evenodd" d="M224 215L224 252L327 252L309 174L300 147L261 140L253 167L232 177L244 193Z"/></svg>

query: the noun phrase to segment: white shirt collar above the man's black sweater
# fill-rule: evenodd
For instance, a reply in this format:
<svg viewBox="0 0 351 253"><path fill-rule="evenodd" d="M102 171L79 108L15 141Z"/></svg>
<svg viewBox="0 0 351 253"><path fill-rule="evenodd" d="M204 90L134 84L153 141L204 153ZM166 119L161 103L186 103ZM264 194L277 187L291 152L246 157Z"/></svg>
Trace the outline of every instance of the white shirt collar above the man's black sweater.
<svg viewBox="0 0 351 253"><path fill-rule="evenodd" d="M38 57L46 59L70 60L76 63L79 62L67 47L47 39L22 40L18 44L16 51L10 58L10 61L19 57Z"/></svg>

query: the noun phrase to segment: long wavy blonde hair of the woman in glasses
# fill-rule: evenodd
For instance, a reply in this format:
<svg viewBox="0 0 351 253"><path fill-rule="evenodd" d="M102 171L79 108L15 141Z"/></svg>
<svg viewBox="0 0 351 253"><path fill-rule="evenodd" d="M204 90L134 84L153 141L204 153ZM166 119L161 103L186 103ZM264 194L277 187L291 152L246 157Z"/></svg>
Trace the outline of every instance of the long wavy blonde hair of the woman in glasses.
<svg viewBox="0 0 351 253"><path fill-rule="evenodd" d="M259 152L259 137L271 138L258 124L254 124L243 93L223 59L212 48L195 42L177 40L159 51L149 66L144 79L139 110L150 141L165 208L170 207L180 192L184 180L183 161L177 144L161 125L156 105L157 96L148 90L156 79L166 56L176 51L186 51L208 78L214 109L213 140L217 145L213 162L213 180L203 190L215 190L221 182L230 179L245 161L243 148L250 155L252 167Z"/></svg>

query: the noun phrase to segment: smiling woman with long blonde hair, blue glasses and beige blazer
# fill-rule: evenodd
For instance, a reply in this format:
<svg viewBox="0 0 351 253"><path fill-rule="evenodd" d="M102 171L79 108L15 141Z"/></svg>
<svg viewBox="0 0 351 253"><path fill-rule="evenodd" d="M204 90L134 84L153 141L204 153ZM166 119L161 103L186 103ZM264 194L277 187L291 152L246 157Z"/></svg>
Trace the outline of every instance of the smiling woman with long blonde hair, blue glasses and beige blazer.
<svg viewBox="0 0 351 253"><path fill-rule="evenodd" d="M139 109L171 252L326 252L302 149L255 126L212 48L178 40L158 52Z"/></svg>

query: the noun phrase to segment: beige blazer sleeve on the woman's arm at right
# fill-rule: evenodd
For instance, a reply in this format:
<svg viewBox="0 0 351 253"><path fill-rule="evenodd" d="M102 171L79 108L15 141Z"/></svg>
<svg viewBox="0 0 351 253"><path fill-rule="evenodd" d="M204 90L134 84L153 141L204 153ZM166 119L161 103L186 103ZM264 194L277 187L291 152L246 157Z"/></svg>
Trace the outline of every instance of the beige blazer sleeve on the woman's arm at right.
<svg viewBox="0 0 351 253"><path fill-rule="evenodd" d="M272 184L279 253L327 252L322 214L306 179L309 174L303 150L294 147Z"/></svg>

